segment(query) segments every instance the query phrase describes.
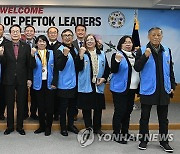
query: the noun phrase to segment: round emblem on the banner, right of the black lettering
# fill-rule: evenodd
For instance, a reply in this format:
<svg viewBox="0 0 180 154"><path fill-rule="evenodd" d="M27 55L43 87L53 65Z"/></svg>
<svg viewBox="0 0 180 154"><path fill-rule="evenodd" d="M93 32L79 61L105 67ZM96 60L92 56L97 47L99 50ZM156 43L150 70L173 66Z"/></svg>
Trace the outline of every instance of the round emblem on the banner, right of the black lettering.
<svg viewBox="0 0 180 154"><path fill-rule="evenodd" d="M125 16L120 11L112 12L108 17L108 22L113 28L120 28L125 23Z"/></svg>

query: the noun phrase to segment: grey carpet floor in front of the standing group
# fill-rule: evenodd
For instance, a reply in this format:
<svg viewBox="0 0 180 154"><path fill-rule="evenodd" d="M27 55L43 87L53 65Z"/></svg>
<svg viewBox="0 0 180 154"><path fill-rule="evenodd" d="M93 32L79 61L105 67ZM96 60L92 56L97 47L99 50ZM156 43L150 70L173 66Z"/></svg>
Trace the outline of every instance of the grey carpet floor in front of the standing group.
<svg viewBox="0 0 180 154"><path fill-rule="evenodd" d="M106 133L111 133L107 131ZM137 131L131 131L137 133ZM157 131L151 131L157 133ZM170 145L174 148L174 153L180 153L180 130L170 131L174 134L174 141ZM32 131L27 131L26 136L20 136L17 132L5 136L0 132L0 153L1 154L164 154L158 142L149 142L147 150L138 149L138 141L130 141L127 145L118 144L113 141L95 141L87 146L80 147L75 134L69 133L68 137L63 137L59 132L53 132L51 136L44 134L35 135Z"/></svg>

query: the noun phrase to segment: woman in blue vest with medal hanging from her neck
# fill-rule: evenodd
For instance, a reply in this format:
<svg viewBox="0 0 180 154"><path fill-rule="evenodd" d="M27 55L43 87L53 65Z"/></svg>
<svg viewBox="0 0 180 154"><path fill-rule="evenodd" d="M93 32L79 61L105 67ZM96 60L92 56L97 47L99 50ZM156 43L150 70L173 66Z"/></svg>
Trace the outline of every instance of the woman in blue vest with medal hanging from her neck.
<svg viewBox="0 0 180 154"><path fill-rule="evenodd" d="M40 35L35 41L37 48L32 48L33 89L38 103L39 128L34 132L51 134L54 111L54 90L57 85L57 71L54 67L54 53L47 50L48 40Z"/></svg>

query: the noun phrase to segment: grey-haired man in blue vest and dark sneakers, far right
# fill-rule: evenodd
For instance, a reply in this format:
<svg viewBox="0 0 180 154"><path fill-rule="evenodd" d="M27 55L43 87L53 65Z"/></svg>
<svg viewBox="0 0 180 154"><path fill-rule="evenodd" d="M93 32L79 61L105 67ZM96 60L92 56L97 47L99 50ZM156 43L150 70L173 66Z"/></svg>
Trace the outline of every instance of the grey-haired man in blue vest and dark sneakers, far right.
<svg viewBox="0 0 180 154"><path fill-rule="evenodd" d="M171 50L161 44L163 32L159 27L148 31L149 43L136 54L134 68L140 72L141 134L139 149L146 150L149 138L149 118L152 105L157 106L159 142L166 152L173 152L168 143L168 104L175 90Z"/></svg>

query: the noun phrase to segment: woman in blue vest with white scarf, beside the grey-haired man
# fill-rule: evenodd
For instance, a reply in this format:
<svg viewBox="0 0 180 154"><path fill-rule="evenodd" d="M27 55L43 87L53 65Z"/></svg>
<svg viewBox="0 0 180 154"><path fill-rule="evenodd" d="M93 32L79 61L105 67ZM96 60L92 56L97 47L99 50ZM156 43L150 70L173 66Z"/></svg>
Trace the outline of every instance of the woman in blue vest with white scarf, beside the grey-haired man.
<svg viewBox="0 0 180 154"><path fill-rule="evenodd" d="M130 114L138 89L139 73L133 68L135 56L132 38L127 35L123 36L119 40L117 49L118 51L111 58L113 74L110 80L110 90L114 103L113 134L116 142L127 144L127 139L130 137L128 132Z"/></svg>

